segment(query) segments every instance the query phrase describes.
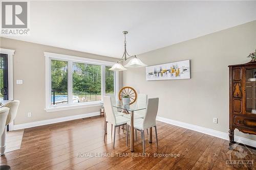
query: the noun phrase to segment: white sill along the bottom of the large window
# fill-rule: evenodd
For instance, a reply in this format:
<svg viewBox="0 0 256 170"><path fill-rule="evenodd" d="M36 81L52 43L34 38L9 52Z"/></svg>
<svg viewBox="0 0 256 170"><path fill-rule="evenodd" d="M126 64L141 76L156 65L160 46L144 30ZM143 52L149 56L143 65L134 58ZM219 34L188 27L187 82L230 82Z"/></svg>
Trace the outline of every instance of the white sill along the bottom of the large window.
<svg viewBox="0 0 256 170"><path fill-rule="evenodd" d="M94 103L85 103L85 104L76 104L76 105L66 105L66 106L55 106L46 108L46 112L55 112L55 111L62 111L62 110L71 110L71 109L81 109L87 107L97 107L102 106L102 102L94 102Z"/></svg>

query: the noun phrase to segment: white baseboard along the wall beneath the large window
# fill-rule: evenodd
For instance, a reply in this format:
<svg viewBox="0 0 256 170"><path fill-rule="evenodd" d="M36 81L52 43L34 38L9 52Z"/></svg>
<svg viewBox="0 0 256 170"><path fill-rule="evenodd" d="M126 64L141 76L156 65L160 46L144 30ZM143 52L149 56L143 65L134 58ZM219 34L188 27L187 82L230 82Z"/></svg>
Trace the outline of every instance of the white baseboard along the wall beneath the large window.
<svg viewBox="0 0 256 170"><path fill-rule="evenodd" d="M69 121L69 120L75 120L75 119L84 118L84 117L92 117L92 116L97 116L97 115L100 115L100 112L92 112L92 113L86 113L86 114L78 114L78 115L73 115L73 116L66 116L66 117L59 117L59 118L53 118L53 119L47 119L47 120L40 120L40 121L30 122L30 123L26 123L26 124L14 125L13 130L32 128L32 127L42 126L42 125L55 124L55 123L59 123L59 122L66 122L66 121Z"/></svg>

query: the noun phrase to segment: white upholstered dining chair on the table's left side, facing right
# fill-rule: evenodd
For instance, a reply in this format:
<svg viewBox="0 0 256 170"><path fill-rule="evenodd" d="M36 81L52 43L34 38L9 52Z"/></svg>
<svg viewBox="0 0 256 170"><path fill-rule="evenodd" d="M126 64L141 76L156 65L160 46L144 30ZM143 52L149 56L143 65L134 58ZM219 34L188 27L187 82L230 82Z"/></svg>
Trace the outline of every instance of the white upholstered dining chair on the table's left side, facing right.
<svg viewBox="0 0 256 170"><path fill-rule="evenodd" d="M126 125L129 118L126 118L124 116L116 116L115 115L110 96L103 96L103 103L104 103L105 115L106 115L106 120L105 120L105 124L104 124L104 140L105 140L105 136L106 136L106 126L108 123L111 123L112 126L114 126L113 148L115 148L116 127Z"/></svg>

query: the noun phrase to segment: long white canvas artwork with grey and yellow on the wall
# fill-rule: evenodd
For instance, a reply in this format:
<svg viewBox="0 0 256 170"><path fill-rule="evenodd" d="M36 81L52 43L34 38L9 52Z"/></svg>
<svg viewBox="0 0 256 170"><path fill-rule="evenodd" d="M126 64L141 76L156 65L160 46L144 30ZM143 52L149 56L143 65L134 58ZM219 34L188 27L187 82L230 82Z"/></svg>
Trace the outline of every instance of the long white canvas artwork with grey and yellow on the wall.
<svg viewBox="0 0 256 170"><path fill-rule="evenodd" d="M146 80L190 79L190 61L152 65L146 67Z"/></svg>

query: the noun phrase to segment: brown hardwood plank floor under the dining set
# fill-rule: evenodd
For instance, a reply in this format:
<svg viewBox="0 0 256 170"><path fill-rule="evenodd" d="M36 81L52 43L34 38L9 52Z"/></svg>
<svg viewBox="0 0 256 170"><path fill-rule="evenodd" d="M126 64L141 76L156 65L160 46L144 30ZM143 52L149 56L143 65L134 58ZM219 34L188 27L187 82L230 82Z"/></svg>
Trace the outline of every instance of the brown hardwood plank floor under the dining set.
<svg viewBox="0 0 256 170"><path fill-rule="evenodd" d="M12 170L255 168L256 151L253 149L239 145L229 151L228 141L224 139L162 122L157 122L157 128L159 147L156 147L153 130L153 143L148 143L145 135L145 156L141 155L140 132L134 153L126 147L125 131L122 130L116 135L113 149L110 125L104 142L103 117L25 129L20 150L2 156L1 165L10 165ZM228 165L230 159L253 160L254 165Z"/></svg>

